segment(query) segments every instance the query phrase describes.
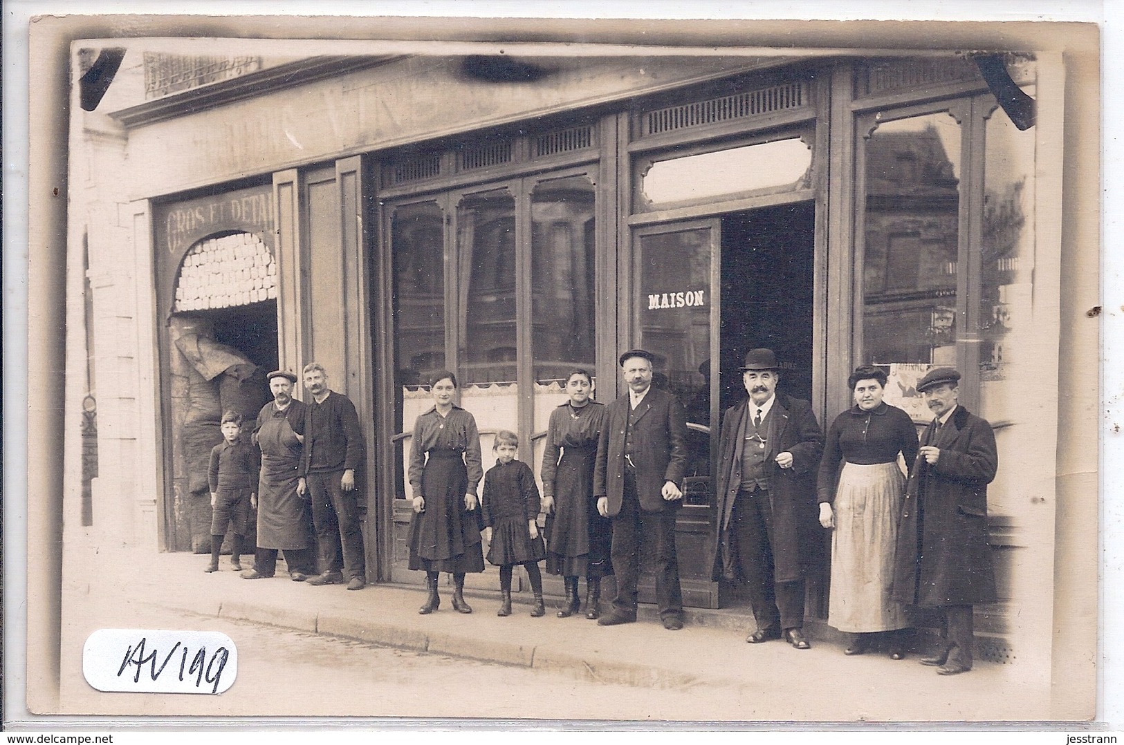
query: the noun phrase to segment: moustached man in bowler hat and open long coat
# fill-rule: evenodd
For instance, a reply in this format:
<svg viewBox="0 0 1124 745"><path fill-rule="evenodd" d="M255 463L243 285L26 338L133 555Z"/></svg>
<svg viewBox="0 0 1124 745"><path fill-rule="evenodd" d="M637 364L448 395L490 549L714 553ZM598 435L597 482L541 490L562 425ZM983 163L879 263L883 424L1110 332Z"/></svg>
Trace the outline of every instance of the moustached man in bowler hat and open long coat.
<svg viewBox="0 0 1124 745"><path fill-rule="evenodd" d="M804 636L805 578L822 556L816 472L824 433L808 401L777 392L772 349L752 349L741 369L749 397L722 420L716 579L745 582L756 629L745 639Z"/></svg>

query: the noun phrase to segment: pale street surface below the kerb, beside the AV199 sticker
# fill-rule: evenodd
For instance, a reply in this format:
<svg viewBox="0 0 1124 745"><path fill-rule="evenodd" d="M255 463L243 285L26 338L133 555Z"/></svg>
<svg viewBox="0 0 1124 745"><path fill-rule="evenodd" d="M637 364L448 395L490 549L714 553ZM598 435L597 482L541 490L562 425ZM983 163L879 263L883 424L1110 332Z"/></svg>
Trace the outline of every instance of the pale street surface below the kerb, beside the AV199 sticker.
<svg viewBox="0 0 1124 745"><path fill-rule="evenodd" d="M239 666L230 690L219 697L176 697L199 712L218 701L280 699L283 688L287 694L303 692L310 709L329 705L341 716L442 717L471 709L481 718L569 719L580 711L587 719L700 719L713 717L716 706L734 710L744 696L728 687L707 687L704 697L596 683L156 607L127 615L132 610L144 611L153 627L223 632L234 639Z"/></svg>

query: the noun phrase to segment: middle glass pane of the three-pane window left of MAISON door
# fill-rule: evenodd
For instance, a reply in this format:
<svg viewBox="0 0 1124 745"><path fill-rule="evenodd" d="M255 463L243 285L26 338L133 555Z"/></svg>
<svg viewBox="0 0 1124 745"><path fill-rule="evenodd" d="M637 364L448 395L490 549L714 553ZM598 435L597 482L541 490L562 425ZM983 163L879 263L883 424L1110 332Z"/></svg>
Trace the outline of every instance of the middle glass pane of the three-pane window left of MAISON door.
<svg viewBox="0 0 1124 745"><path fill-rule="evenodd" d="M515 199L504 190L456 208L460 360L464 383L516 379Z"/></svg>

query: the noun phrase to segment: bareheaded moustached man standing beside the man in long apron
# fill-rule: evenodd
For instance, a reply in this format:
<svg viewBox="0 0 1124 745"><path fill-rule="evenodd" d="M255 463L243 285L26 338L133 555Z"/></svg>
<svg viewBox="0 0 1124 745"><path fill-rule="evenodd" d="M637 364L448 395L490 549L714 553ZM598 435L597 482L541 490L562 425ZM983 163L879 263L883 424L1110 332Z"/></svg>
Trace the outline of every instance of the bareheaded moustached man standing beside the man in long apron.
<svg viewBox="0 0 1124 745"><path fill-rule="evenodd" d="M305 458L299 493L312 499L312 524L324 558L323 574L309 584L341 584L362 590L366 584L361 520L366 512L355 488L355 471L363 463L363 431L355 405L328 389L324 365L305 365L305 388L312 396L306 405Z"/></svg>

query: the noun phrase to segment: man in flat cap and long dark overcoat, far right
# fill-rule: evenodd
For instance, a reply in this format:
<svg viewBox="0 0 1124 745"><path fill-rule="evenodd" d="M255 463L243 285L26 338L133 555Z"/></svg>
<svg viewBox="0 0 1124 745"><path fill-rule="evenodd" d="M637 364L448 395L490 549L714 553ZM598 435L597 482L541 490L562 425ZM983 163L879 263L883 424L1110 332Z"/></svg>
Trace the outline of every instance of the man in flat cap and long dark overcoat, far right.
<svg viewBox="0 0 1124 745"><path fill-rule="evenodd" d="M959 385L952 367L931 370L917 383L935 419L909 471L895 554L894 598L943 616L940 647L921 658L941 675L972 669L972 606L996 600L987 529L995 434L958 403Z"/></svg>

